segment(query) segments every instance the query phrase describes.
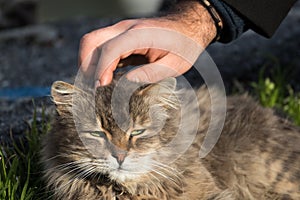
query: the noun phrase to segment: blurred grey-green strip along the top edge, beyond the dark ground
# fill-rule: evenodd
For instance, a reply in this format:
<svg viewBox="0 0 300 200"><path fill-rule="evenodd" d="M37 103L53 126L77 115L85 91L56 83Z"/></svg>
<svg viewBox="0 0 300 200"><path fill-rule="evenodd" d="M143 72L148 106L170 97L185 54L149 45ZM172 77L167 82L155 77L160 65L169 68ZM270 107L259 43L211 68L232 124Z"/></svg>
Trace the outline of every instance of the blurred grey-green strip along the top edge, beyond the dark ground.
<svg viewBox="0 0 300 200"><path fill-rule="evenodd" d="M163 0L1 0L0 27L10 28L83 16L145 16L157 12L167 2Z"/></svg>

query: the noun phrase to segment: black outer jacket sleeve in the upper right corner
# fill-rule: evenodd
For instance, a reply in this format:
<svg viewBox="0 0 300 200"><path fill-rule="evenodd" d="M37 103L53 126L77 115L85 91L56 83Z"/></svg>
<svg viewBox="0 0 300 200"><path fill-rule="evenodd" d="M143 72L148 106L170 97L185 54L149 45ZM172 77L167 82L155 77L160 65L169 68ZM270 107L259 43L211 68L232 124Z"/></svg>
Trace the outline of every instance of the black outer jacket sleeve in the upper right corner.
<svg viewBox="0 0 300 200"><path fill-rule="evenodd" d="M223 0L249 23L249 28L271 37L297 0Z"/></svg>

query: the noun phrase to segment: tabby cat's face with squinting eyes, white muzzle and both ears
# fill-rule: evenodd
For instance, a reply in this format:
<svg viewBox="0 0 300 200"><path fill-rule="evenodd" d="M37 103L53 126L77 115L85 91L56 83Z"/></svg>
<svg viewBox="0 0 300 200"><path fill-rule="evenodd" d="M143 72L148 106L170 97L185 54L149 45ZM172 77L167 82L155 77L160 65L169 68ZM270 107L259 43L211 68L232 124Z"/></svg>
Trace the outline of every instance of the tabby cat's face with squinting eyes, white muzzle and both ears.
<svg viewBox="0 0 300 200"><path fill-rule="evenodd" d="M60 118L69 121L68 126L75 121L71 137L80 138L76 145L84 149L69 145L76 167L121 182L166 169L161 157L172 155L163 149L178 129L175 85L175 79L142 87L126 82L116 90L113 83L99 87L94 97L78 95L79 90L74 95L74 86L54 83L52 96ZM128 94L130 88L138 89Z"/></svg>

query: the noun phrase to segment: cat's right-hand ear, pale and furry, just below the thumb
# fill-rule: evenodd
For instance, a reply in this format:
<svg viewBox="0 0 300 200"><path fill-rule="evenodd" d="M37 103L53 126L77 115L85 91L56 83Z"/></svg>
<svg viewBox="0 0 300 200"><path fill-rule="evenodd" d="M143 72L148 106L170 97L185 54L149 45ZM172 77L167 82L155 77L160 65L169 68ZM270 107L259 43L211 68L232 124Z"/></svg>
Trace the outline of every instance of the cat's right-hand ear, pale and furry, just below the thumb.
<svg viewBox="0 0 300 200"><path fill-rule="evenodd" d="M150 84L141 91L144 95L154 97L160 103L171 107L177 107L176 79L166 78L158 83Z"/></svg>

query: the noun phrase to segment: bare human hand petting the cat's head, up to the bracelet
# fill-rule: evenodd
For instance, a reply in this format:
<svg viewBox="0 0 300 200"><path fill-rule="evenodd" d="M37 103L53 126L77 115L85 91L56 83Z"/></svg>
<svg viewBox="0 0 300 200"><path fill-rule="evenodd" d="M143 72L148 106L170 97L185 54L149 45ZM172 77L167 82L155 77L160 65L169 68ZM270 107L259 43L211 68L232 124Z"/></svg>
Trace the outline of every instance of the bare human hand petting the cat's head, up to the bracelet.
<svg viewBox="0 0 300 200"><path fill-rule="evenodd" d="M183 1L178 9L164 17L124 20L86 34L79 51L82 70L94 73L97 85L107 85L122 61L138 54L148 64L129 72L129 80L157 82L183 74L214 39L216 27L197 1Z"/></svg>

